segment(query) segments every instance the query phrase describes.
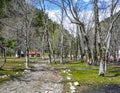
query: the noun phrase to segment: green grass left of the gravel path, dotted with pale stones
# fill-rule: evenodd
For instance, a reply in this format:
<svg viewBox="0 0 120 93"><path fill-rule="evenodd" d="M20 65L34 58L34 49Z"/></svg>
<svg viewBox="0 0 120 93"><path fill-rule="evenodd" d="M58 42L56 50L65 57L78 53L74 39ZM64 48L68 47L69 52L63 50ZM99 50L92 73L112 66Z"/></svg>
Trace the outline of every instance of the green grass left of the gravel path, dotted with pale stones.
<svg viewBox="0 0 120 93"><path fill-rule="evenodd" d="M30 62L40 60L40 58L30 58ZM0 66L3 64L4 59L0 58ZM32 65L30 65L32 67ZM3 70L0 70L0 83L11 80L12 77L21 76L24 74L25 58L7 58L7 63L4 65Z"/></svg>

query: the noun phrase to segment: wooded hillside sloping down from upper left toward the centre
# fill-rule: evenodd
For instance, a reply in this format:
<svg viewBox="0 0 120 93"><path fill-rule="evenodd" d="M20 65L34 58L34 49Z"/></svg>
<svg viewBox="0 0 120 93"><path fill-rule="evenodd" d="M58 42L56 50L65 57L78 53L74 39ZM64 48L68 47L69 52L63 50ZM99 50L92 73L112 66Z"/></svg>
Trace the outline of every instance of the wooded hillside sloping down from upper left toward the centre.
<svg viewBox="0 0 120 93"><path fill-rule="evenodd" d="M0 18L0 37L4 39L4 41L0 39L0 42L6 47L7 54L13 55L19 49L25 52L26 33L28 34L27 38L30 51L42 51L44 47L44 51L48 52L48 38L51 42L52 49L54 51L59 50L61 26L53 22L48 18L47 14L36 9L34 6L25 4L24 7L28 7L28 10L22 9L18 3L12 0L7 5L6 12L3 12ZM69 46L67 40L72 35L65 29L63 32L64 37L67 37L65 38L65 46ZM9 41L13 41L14 43L12 48L10 48L11 44L8 44Z"/></svg>

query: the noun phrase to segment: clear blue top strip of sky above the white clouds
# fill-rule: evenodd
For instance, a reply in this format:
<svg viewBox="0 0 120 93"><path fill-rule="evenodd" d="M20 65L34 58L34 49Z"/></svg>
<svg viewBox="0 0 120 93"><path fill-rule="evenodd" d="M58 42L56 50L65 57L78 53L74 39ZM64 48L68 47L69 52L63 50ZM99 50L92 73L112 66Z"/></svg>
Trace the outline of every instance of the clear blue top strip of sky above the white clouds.
<svg viewBox="0 0 120 93"><path fill-rule="evenodd" d="M40 8L40 3L39 1L45 1L45 7L47 10L59 10L59 7L55 4L49 3L47 0L26 0L27 2L34 2L35 6L37 8ZM54 1L54 0L51 0ZM57 2L60 2L60 0L56 0ZM66 0L67 1L67 0ZM93 5L92 2L93 0L72 0L73 2L77 2L78 7L81 7L81 11L91 11L93 10ZM102 4L100 6L107 6L111 0L98 0ZM120 0L119 0L120 3Z"/></svg>

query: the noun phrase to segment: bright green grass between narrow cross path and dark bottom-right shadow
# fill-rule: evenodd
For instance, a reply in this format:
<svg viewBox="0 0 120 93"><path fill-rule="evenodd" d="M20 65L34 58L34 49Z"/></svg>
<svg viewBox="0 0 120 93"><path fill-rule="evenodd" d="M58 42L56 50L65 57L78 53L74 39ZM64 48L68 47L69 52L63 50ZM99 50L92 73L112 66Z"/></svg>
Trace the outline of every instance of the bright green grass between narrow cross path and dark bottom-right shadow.
<svg viewBox="0 0 120 93"><path fill-rule="evenodd" d="M94 90L106 85L120 85L120 72L108 72L104 77L98 76L98 70L71 70L72 81L78 81L77 89ZM118 76L117 76L118 75Z"/></svg>

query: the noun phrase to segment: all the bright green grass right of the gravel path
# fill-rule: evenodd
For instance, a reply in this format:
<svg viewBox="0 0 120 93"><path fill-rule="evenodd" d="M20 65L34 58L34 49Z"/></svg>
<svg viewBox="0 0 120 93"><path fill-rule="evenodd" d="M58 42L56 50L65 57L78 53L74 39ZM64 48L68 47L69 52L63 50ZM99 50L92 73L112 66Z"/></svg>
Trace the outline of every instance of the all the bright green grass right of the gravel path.
<svg viewBox="0 0 120 93"><path fill-rule="evenodd" d="M70 69L71 80L67 80L68 74L63 73L65 79L65 87L69 88L69 82L79 82L80 86L77 86L77 93L83 93L80 91L87 89L99 89L101 86L117 84L120 85L120 68L116 66L108 66L108 72L104 77L98 76L99 66L88 66L86 63L80 61L67 61L65 64L52 64L54 67L61 67ZM118 65L117 65L118 66Z"/></svg>

